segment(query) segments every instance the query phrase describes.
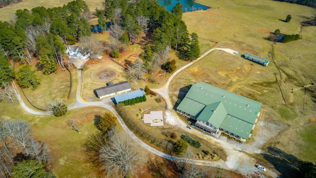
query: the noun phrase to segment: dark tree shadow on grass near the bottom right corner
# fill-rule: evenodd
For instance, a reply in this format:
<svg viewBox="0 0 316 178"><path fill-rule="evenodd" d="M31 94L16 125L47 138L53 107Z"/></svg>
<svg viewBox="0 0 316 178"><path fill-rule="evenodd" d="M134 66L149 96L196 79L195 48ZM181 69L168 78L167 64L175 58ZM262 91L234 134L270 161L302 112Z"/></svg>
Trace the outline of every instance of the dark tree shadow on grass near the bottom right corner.
<svg viewBox="0 0 316 178"><path fill-rule="evenodd" d="M303 163L297 157L287 154L276 147L268 147L268 153L263 157L269 161L281 175L278 178L299 178L298 167Z"/></svg>

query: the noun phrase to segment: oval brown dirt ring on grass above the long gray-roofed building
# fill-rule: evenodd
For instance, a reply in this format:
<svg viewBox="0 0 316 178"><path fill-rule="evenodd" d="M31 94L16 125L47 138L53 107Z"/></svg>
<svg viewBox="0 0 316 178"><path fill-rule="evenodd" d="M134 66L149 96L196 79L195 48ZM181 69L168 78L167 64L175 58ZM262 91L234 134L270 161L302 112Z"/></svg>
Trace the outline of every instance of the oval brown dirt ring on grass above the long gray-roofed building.
<svg viewBox="0 0 316 178"><path fill-rule="evenodd" d="M111 68L100 68L93 71L90 75L91 79L96 82L110 81L114 79L117 75L116 70Z"/></svg>

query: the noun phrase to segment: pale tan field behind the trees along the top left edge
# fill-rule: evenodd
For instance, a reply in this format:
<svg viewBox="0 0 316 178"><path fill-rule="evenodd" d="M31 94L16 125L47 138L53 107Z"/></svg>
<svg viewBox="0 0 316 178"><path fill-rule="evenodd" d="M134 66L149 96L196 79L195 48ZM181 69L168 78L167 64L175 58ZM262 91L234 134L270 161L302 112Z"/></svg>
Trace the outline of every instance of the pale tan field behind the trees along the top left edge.
<svg viewBox="0 0 316 178"><path fill-rule="evenodd" d="M46 8L58 7L67 4L73 0L23 0L19 3L11 4L0 8L1 21L14 21L15 12L18 9L31 10L34 7L43 6ZM90 11L95 11L95 8L101 9L103 0L84 0L89 6Z"/></svg>

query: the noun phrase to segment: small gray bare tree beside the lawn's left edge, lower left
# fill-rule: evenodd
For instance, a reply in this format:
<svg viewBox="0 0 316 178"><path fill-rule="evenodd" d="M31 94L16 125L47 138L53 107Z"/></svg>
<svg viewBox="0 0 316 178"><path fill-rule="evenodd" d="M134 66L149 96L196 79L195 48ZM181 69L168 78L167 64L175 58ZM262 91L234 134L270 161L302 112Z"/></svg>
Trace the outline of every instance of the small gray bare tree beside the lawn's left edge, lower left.
<svg viewBox="0 0 316 178"><path fill-rule="evenodd" d="M28 156L31 159L38 160L40 164L47 164L48 160L50 158L50 154L47 151L47 144L44 142L36 141L36 140L30 140L28 141Z"/></svg>

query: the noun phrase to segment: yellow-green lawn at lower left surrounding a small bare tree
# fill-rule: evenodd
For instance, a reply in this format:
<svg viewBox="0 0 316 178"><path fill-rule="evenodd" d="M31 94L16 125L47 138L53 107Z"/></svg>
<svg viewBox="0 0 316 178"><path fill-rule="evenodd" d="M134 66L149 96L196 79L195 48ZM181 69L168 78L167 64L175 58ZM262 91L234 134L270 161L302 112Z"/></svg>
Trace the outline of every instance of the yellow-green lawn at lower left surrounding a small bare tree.
<svg viewBox="0 0 316 178"><path fill-rule="evenodd" d="M81 108L68 111L66 116L41 117L33 123L36 139L46 142L51 153L49 164L52 172L59 178L96 178L104 177L86 151L84 144L92 134L98 131L94 127L94 116L103 115L103 108ZM81 134L67 126L69 119L79 122Z"/></svg>

